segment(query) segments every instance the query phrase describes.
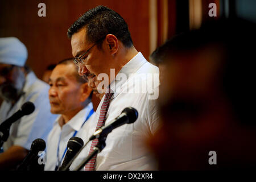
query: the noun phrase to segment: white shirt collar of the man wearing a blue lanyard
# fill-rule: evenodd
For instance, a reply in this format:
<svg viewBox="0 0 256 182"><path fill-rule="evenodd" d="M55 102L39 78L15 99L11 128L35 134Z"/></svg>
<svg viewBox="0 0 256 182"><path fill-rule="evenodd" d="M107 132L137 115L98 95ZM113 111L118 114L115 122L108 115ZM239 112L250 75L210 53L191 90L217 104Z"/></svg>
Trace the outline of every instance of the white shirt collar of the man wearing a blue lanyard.
<svg viewBox="0 0 256 182"><path fill-rule="evenodd" d="M77 113L71 120L69 120L65 125L62 127L71 127L75 131L79 131L82 127L82 124L85 122L85 119L88 117L90 111L93 109L93 104L90 102L84 109L80 110L79 113ZM62 122L63 118L61 115L55 120L55 124L59 124L59 122ZM60 126L60 124L59 124Z"/></svg>

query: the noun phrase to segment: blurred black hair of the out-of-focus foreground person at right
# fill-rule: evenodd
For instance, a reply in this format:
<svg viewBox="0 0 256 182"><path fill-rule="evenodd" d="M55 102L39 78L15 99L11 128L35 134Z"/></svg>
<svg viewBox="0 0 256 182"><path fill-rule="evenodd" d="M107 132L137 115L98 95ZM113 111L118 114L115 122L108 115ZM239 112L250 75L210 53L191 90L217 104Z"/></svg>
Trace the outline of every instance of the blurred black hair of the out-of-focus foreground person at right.
<svg viewBox="0 0 256 182"><path fill-rule="evenodd" d="M151 55L156 63L183 61L172 59L188 52L200 52L212 46L221 51L221 68L215 81L228 98L233 112L242 123L256 125L253 107L255 101L254 57L256 25L242 19L218 20L205 23L199 30L176 35ZM207 55L214 56L214 55ZM205 56L205 59L208 59ZM195 59L187 59L195 61ZM203 69L203 68L202 68Z"/></svg>

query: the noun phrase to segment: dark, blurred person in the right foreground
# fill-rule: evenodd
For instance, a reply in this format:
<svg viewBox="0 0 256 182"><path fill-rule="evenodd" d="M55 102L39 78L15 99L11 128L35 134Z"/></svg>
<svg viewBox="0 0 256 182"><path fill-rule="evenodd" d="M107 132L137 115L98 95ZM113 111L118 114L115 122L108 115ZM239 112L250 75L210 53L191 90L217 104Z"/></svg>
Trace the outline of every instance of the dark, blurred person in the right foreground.
<svg viewBox="0 0 256 182"><path fill-rule="evenodd" d="M164 127L150 139L159 169L255 169L255 32L245 20L220 20L152 53L166 70Z"/></svg>

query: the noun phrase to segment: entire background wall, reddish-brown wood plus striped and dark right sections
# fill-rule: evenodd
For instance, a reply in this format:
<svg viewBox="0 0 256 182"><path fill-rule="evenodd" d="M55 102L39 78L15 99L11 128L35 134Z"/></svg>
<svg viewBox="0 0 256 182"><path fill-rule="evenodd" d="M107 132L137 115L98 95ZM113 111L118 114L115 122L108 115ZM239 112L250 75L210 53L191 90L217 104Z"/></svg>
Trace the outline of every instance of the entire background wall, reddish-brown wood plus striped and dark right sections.
<svg viewBox="0 0 256 182"><path fill-rule="evenodd" d="M42 78L47 65L72 57L71 43L67 38L67 30L71 24L85 11L98 5L105 5L117 11L126 20L135 48L148 59L153 51L152 48L150 50L150 43L156 41L156 44L152 45L160 46L166 39L189 29L189 7L193 5L193 1L195 0L2 0L0 37L19 38L28 49L27 64L39 78ZM46 17L38 16L38 4L41 2L46 4ZM202 22L218 19L225 14L256 22L254 0L200 2ZM208 5L212 2L217 5L216 18L208 16ZM152 9L156 9L157 12L154 16L150 11ZM167 15L164 14L166 9ZM157 20L156 31L150 28L150 17ZM166 19L168 30L167 35L163 35ZM150 32L156 35L156 40L150 37ZM98 102L94 96L94 106L97 106Z"/></svg>

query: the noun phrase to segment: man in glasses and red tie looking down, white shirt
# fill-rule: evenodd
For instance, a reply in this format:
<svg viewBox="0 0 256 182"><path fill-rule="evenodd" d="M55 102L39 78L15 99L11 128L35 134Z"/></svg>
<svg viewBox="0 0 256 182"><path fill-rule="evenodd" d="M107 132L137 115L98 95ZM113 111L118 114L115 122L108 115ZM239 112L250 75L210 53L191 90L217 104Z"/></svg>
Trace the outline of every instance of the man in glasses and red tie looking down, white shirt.
<svg viewBox="0 0 256 182"><path fill-rule="evenodd" d="M110 88L114 93L105 125L128 106L137 109L139 114L137 121L118 127L108 135L106 147L97 155L94 169L156 169L143 140L159 127L156 107L159 69L148 63L142 53L134 48L125 20L108 7L98 6L87 11L69 28L68 36L71 38L74 61L79 65L79 74L92 80L96 80L96 76L98 80L104 77L104 82L98 84L98 88ZM98 105L94 119L79 133L86 142L96 129L105 96ZM91 143L73 162L71 169L76 169L81 159L88 156Z"/></svg>

